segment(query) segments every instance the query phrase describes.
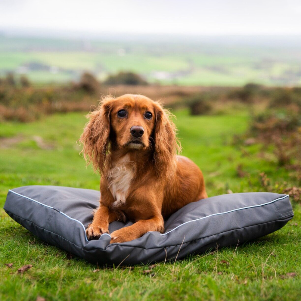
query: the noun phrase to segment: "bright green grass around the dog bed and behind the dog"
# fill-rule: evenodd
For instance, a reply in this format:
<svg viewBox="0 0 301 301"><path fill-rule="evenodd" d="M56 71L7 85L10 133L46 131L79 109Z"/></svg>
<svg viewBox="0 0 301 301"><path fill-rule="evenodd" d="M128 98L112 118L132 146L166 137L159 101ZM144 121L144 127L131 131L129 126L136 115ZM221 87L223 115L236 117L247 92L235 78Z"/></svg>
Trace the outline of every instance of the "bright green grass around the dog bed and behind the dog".
<svg viewBox="0 0 301 301"><path fill-rule="evenodd" d="M0 206L9 188L22 185L65 185L98 189L99 178L85 168L76 140L86 122L84 113L56 114L33 123L0 124ZM220 116L188 116L176 112L183 154L203 170L209 196L261 191L258 173L272 182L296 185L289 172L259 157L260 145L234 145L233 135L244 133L247 112ZM41 149L38 135L51 149ZM15 137L6 147L3 141ZM237 176L241 164L250 174ZM151 276L144 266L134 269L100 267L43 243L0 209L0 299L36 300L298 300L301 298L301 207L284 228L261 239L156 265ZM296 225L295 225L296 224ZM229 265L221 263L222 260ZM4 263L14 263L8 268ZM17 269L33 267L23 275ZM296 277L287 278L287 273Z"/></svg>

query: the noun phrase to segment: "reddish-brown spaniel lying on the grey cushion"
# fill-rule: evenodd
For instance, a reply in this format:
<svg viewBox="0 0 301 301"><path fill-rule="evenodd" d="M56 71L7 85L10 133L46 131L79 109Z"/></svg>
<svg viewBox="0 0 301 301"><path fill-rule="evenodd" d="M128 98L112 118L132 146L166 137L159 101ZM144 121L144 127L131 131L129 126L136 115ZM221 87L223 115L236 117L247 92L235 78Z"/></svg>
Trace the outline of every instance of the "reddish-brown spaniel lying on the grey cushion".
<svg viewBox="0 0 301 301"><path fill-rule="evenodd" d="M82 154L101 174L100 206L86 229L89 240L109 233L113 221L133 225L111 233L123 243L148 231L164 231L164 219L207 197L201 170L181 151L170 113L142 95L105 97L79 141Z"/></svg>

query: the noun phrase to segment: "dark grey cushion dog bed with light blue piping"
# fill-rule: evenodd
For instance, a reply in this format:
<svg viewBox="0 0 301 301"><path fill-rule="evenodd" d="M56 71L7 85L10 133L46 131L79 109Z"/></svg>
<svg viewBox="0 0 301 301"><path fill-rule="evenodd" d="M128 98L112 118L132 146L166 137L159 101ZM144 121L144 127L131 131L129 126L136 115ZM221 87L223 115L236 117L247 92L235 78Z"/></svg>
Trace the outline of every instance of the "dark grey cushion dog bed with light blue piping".
<svg viewBox="0 0 301 301"><path fill-rule="evenodd" d="M110 244L110 235L88 240L85 228L99 205L96 190L24 186L9 190L5 211L40 239L98 264L135 265L178 259L212 248L237 245L272 233L293 218L289 196L251 192L190 203L165 221L165 231ZM113 222L110 233L132 225Z"/></svg>

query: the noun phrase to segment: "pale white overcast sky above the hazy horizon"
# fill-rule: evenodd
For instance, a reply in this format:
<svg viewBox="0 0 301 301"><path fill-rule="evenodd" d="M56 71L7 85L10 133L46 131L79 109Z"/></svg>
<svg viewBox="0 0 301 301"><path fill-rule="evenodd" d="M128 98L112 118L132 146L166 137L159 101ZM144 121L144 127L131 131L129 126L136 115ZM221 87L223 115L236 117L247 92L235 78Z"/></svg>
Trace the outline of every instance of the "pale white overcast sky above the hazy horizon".
<svg viewBox="0 0 301 301"><path fill-rule="evenodd" d="M0 0L0 29L299 35L301 0Z"/></svg>

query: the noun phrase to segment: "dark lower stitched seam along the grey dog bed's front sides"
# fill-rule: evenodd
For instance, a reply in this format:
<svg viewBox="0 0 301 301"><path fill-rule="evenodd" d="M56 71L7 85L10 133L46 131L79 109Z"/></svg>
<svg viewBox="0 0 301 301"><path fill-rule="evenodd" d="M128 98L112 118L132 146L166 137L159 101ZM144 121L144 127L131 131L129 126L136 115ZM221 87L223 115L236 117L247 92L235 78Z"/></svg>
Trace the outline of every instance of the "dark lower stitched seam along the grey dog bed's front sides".
<svg viewBox="0 0 301 301"><path fill-rule="evenodd" d="M5 210L5 212L8 213L9 211ZM23 219L23 220L25 220L25 221L27 221L27 222L32 223L33 225L37 226L37 227L40 228L40 229L43 229L43 230L45 230L45 231L48 231L48 232L50 232L50 233L52 233L52 234L54 234L54 235L57 235L57 236L61 237L62 239L68 241L70 244L73 244L74 246L78 247L79 249L81 249L82 251L85 251L85 252L90 252L90 251L93 251L93 250L101 250L101 251L105 251L105 250L107 249L107 247L110 247L110 246L113 245L113 244L107 245L107 246L106 246L106 249L104 249L104 250L102 250L102 249L100 249L100 248L92 248L92 249L86 250L86 249L83 249L82 247L76 245L74 242L68 240L67 238L61 236L60 234L57 234L57 233L55 233L55 232L52 232L52 231L47 230L47 229L45 229L45 228L42 228L42 227L40 227L39 225L35 224L34 222L32 222L32 221L30 221L30 220L28 220L28 219L24 219L23 217L18 216L18 215L16 215L16 214L12 213L12 212L10 212L10 213L11 213L12 215L14 215L14 216L19 217L20 219ZM258 225L265 225L265 224L269 224L269 223L272 223L272 222L279 222L279 219L276 219L276 220L270 221L270 222L266 222L266 223L250 225L250 226L246 226L246 227L242 227L242 228L234 228L234 229L227 230L227 231L224 231L224 232L215 233L215 234L212 234L212 235L209 235L209 236L199 237L199 238L196 238L196 239L193 239L193 240L189 240L189 241L185 242L184 244L187 244L187 243L190 243L190 242L199 240L199 239L208 238L208 237L211 237L211 236L214 236L214 235L219 235L219 234L227 233L227 232L229 232L229 231L240 230L240 229L243 229L243 228L249 228L249 227L254 227L254 226L258 226ZM29 230L28 230L28 231L29 231ZM29 232L30 232L30 231L29 231ZM36 235L36 236L37 236L37 235ZM129 248L140 248L140 249L144 249L144 250L152 250L152 249L160 249L160 248L166 248L166 247L175 247L175 246L181 245L182 243L181 243L181 244L179 243L179 244L175 244L175 245L170 245L170 246L164 246L164 247L154 247L154 248L144 248L144 247L140 247L140 246L129 246L129 245L126 245L126 244L124 244L124 243L123 243L123 244L120 244L120 243L114 243L114 244L116 244L116 245L121 245L121 246L123 246L123 247L129 247Z"/></svg>

